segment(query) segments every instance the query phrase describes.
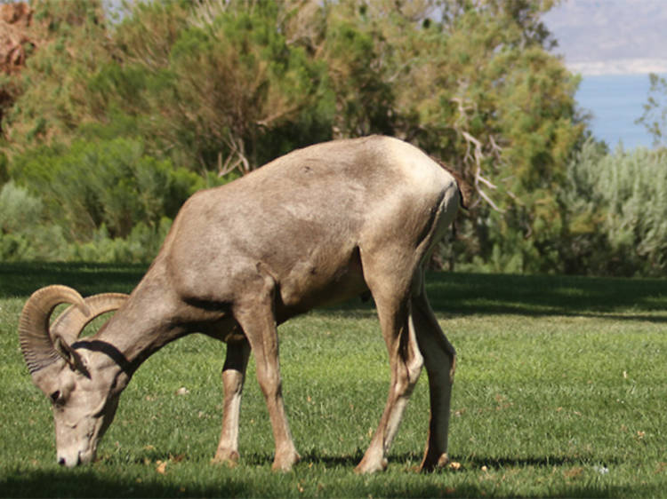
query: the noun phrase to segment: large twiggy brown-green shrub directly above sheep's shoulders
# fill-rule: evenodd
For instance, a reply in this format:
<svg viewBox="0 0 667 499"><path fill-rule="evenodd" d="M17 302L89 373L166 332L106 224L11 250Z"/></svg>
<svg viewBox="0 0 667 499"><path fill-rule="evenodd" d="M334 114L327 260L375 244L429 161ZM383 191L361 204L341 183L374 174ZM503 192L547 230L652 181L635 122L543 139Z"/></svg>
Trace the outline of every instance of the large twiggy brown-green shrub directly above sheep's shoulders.
<svg viewBox="0 0 667 499"><path fill-rule="evenodd" d="M287 43L278 4L185 5L138 3L115 28L122 63L92 75L97 119L141 113L154 147L220 175L330 137L325 66Z"/></svg>

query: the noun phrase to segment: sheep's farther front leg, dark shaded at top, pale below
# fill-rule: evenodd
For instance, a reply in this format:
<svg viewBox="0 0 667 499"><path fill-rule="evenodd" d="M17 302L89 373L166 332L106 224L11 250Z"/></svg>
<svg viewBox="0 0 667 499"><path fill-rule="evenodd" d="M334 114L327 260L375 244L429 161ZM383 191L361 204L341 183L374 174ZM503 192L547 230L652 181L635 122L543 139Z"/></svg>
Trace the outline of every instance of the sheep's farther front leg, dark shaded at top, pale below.
<svg viewBox="0 0 667 499"><path fill-rule="evenodd" d="M238 461L238 420L241 410L241 393L245 381L245 368L250 357L250 345L244 339L227 345L227 357L222 367L224 408L222 432L213 463L234 464Z"/></svg>

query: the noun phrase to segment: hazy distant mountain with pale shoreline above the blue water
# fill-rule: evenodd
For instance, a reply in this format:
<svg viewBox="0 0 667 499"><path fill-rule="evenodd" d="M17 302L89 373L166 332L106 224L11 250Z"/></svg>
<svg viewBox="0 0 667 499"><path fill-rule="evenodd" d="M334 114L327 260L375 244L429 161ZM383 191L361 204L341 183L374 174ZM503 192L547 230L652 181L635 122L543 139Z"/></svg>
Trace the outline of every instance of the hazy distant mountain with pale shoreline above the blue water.
<svg viewBox="0 0 667 499"><path fill-rule="evenodd" d="M544 22L577 73L667 72L665 0L566 0Z"/></svg>

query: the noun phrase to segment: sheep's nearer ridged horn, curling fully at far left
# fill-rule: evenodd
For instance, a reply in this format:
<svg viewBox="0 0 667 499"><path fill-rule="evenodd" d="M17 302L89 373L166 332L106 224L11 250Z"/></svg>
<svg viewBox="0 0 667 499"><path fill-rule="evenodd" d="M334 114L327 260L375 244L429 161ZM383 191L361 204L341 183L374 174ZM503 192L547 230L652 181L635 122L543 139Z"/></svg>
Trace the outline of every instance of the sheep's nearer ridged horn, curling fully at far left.
<svg viewBox="0 0 667 499"><path fill-rule="evenodd" d="M23 306L19 321L20 350L30 374L60 359L49 334L49 320L55 307L62 303L74 304L84 315L90 314L76 289L60 285L37 289Z"/></svg>

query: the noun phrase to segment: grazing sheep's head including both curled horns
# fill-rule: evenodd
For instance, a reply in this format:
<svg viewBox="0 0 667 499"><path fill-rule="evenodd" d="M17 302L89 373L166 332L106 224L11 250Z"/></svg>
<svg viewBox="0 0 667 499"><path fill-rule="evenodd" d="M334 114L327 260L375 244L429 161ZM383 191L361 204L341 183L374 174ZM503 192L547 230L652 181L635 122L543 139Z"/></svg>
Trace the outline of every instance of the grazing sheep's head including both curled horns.
<svg viewBox="0 0 667 499"><path fill-rule="evenodd" d="M92 364L92 351L76 345L86 324L119 308L126 295L83 298L66 286L38 289L20 316L20 348L33 382L52 401L58 462L90 463L116 414L116 377ZM72 304L50 324L57 305ZM82 342L84 343L84 342Z"/></svg>

